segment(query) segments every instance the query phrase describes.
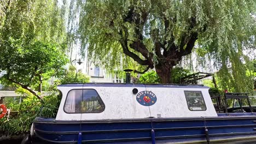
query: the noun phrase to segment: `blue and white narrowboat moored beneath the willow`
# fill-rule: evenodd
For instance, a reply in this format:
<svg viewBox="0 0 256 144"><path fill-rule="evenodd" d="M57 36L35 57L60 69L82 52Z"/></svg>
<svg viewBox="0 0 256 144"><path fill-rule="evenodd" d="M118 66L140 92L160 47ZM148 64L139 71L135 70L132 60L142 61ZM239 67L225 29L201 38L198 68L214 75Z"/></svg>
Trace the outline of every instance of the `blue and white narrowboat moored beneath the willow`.
<svg viewBox="0 0 256 144"><path fill-rule="evenodd" d="M57 88L62 99L56 118L37 117L31 131L49 143L210 143L256 137L254 112L217 113L203 85L74 83Z"/></svg>

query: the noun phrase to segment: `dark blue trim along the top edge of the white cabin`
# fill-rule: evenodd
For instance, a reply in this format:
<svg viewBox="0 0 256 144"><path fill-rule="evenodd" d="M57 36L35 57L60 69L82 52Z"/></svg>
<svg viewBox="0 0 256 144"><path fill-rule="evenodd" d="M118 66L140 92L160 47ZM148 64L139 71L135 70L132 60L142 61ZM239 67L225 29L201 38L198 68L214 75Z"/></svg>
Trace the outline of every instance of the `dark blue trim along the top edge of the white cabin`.
<svg viewBox="0 0 256 144"><path fill-rule="evenodd" d="M58 87L168 87L168 88L209 88L203 85L143 84L143 83L71 83Z"/></svg>

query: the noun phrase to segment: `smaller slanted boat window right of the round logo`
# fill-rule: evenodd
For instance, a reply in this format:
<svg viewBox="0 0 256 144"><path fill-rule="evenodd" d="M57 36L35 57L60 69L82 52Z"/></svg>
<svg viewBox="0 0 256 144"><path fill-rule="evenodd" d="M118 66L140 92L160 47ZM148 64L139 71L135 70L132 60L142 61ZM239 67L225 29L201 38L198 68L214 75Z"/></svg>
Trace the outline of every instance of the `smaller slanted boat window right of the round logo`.
<svg viewBox="0 0 256 144"><path fill-rule="evenodd" d="M205 111L205 100L201 91L184 91L190 111Z"/></svg>

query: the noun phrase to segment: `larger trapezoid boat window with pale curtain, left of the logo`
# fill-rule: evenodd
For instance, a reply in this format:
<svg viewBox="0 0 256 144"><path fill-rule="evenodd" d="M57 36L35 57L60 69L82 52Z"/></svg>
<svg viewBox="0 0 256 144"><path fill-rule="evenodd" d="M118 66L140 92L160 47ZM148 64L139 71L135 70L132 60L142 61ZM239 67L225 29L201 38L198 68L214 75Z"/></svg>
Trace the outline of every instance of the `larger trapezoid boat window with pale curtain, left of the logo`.
<svg viewBox="0 0 256 144"><path fill-rule="evenodd" d="M67 113L99 113L105 105L95 89L73 89L68 92L64 105Z"/></svg>

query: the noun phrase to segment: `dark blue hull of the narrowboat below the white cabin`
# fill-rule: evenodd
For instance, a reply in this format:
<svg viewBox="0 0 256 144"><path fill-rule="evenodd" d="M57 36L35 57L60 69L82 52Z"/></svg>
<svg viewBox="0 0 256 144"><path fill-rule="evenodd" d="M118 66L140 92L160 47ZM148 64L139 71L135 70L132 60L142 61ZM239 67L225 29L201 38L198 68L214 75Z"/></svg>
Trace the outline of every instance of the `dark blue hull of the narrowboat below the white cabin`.
<svg viewBox="0 0 256 144"><path fill-rule="evenodd" d="M33 125L36 136L51 143L78 143L79 132L85 143L191 143L256 137L255 113L102 121L57 121L38 117Z"/></svg>

